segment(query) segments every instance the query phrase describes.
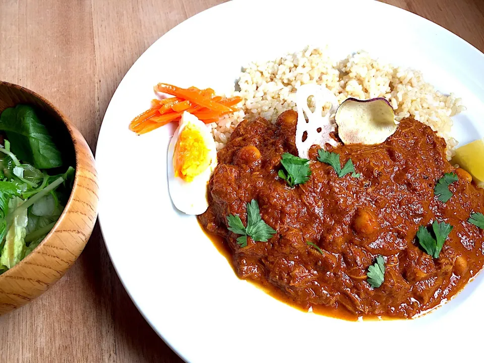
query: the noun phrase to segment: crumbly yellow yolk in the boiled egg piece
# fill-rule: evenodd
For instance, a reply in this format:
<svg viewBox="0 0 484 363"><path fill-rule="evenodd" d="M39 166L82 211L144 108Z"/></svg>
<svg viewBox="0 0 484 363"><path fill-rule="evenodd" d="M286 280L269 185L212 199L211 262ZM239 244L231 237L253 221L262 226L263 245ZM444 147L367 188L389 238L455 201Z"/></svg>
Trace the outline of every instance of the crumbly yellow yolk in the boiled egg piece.
<svg viewBox="0 0 484 363"><path fill-rule="evenodd" d="M200 130L192 124L181 130L173 153L175 177L192 181L212 162Z"/></svg>

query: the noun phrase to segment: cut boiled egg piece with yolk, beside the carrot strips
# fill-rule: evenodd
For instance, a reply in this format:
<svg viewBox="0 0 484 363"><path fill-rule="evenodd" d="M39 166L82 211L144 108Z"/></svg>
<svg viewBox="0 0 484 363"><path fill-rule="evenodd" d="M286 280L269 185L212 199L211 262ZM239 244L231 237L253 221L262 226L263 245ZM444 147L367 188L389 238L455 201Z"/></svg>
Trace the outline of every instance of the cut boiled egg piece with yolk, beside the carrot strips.
<svg viewBox="0 0 484 363"><path fill-rule="evenodd" d="M210 129L197 116L184 112L168 147L168 187L175 207L186 214L208 208L207 184L217 166Z"/></svg>

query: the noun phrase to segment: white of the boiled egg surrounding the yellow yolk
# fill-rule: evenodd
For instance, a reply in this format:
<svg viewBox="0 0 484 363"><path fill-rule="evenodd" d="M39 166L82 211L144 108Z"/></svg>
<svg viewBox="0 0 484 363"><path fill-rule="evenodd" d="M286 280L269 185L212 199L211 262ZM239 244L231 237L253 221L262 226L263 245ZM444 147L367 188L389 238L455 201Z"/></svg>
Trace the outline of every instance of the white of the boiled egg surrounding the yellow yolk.
<svg viewBox="0 0 484 363"><path fill-rule="evenodd" d="M175 177L173 154L175 145L178 142L181 131L189 124L200 130L205 147L209 150L211 158L210 165L199 175L195 176L192 181L188 182L180 177ZM215 141L210 129L197 116L184 112L178 128L175 130L168 147L168 188L170 191L171 201L176 209L191 215L199 215L208 208L207 184L210 180L213 170L217 166L217 150Z"/></svg>

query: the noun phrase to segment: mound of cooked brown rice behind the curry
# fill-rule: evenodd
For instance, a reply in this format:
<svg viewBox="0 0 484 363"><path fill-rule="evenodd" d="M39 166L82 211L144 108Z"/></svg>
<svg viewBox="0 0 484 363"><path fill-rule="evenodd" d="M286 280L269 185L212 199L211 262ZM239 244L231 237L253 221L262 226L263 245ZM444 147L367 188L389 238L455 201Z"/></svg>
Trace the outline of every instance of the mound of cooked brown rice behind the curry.
<svg viewBox="0 0 484 363"><path fill-rule="evenodd" d="M460 98L436 91L419 71L384 64L365 51L335 62L327 49L311 47L274 61L250 63L240 73L240 91L231 95L243 97L241 111L211 124L217 149L225 146L244 118L262 116L274 122L281 112L295 109L297 88L309 83L326 86L339 103L348 97L385 97L395 109L397 120L412 116L429 125L445 139L447 157L454 154L457 141L451 136L450 116L465 110Z"/></svg>

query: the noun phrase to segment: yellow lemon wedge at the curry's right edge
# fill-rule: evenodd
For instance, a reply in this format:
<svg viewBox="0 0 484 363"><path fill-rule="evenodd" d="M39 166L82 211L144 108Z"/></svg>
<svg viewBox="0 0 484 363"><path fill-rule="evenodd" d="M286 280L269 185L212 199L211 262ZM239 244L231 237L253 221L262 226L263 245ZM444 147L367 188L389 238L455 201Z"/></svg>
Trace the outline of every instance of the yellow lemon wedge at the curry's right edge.
<svg viewBox="0 0 484 363"><path fill-rule="evenodd" d="M484 139L472 141L455 151L452 164L468 171L479 188L484 188Z"/></svg>

